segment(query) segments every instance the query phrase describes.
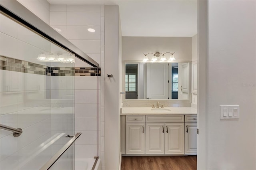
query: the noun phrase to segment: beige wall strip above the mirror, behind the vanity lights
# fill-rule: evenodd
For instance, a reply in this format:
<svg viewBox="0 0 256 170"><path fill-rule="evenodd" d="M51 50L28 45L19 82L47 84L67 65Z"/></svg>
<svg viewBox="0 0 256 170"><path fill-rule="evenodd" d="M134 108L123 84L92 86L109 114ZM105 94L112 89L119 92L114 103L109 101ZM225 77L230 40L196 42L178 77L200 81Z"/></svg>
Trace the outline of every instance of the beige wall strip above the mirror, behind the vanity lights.
<svg viewBox="0 0 256 170"><path fill-rule="evenodd" d="M143 60L143 53L155 53L156 51L175 52L176 61L191 61L192 38L191 37L123 37L122 60ZM153 55L149 54L151 59ZM169 59L170 54L166 54Z"/></svg>

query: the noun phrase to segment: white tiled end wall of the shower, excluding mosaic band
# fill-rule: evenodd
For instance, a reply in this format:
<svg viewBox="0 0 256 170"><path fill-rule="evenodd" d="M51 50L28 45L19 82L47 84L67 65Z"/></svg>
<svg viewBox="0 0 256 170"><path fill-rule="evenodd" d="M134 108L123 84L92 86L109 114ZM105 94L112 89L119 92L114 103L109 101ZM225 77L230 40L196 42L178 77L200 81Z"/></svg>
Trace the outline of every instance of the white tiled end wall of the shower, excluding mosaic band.
<svg viewBox="0 0 256 170"><path fill-rule="evenodd" d="M62 28L59 28L64 30L60 34L66 36L70 42L98 62L102 73L104 73L105 6L52 5L50 10L53 14L51 15L52 28L58 28L57 26L60 25ZM66 24L54 24L58 19L62 19L53 12L66 12ZM90 33L87 31L88 28L94 28L96 32ZM80 59L76 59L75 67L91 66ZM102 134L102 130L104 130L104 103L103 106L100 104L104 99L104 78L75 77L75 98L75 130L82 132L76 141L75 157L92 158L98 152L98 156L104 162L104 132ZM98 132L98 136L96 132ZM98 151L97 148L99 148Z"/></svg>

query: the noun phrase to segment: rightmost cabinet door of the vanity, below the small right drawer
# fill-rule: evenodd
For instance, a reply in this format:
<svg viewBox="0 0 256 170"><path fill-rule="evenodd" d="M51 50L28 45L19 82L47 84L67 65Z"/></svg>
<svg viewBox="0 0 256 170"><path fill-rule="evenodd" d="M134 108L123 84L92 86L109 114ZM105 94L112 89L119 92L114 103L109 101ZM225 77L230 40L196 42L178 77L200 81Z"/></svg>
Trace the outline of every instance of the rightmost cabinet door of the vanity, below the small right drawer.
<svg viewBox="0 0 256 170"><path fill-rule="evenodd" d="M196 154L197 124L185 123L185 154Z"/></svg>

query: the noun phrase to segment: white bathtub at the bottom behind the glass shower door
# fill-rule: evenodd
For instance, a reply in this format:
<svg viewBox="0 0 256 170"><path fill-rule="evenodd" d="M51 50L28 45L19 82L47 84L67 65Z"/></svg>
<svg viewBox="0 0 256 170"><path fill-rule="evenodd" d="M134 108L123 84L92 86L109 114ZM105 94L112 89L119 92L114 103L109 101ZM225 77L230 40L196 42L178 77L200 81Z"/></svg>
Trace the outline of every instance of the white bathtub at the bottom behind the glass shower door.
<svg viewBox="0 0 256 170"><path fill-rule="evenodd" d="M75 158L74 170L92 170L94 162L94 158ZM68 158L60 158L54 163L50 170L72 170L71 160ZM100 158L98 159L94 170L101 170Z"/></svg>

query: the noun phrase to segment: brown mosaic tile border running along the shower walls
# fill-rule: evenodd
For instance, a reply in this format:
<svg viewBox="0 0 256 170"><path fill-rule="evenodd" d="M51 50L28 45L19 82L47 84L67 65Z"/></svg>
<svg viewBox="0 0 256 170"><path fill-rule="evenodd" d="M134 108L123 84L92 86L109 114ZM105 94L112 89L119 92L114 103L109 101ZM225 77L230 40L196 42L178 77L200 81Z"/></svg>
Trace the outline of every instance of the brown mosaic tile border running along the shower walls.
<svg viewBox="0 0 256 170"><path fill-rule="evenodd" d="M95 67L48 67L0 55L0 69L48 76L100 76Z"/></svg>

